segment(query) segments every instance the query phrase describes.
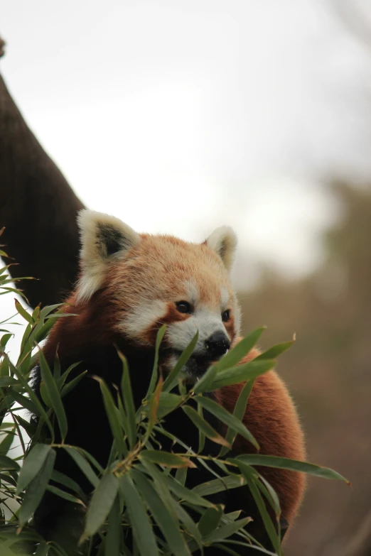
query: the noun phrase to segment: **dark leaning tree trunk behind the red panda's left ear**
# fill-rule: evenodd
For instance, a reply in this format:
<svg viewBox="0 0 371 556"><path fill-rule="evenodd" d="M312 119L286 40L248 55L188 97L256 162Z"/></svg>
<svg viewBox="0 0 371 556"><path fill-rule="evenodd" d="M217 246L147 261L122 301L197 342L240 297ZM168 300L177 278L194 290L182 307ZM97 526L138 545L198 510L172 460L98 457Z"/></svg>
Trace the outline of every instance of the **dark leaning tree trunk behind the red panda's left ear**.
<svg viewBox="0 0 371 556"><path fill-rule="evenodd" d="M20 283L31 306L58 303L72 288L78 270L76 214L83 206L28 129L0 76L0 229L6 227L1 243L18 263L9 268L13 278L38 278Z"/></svg>

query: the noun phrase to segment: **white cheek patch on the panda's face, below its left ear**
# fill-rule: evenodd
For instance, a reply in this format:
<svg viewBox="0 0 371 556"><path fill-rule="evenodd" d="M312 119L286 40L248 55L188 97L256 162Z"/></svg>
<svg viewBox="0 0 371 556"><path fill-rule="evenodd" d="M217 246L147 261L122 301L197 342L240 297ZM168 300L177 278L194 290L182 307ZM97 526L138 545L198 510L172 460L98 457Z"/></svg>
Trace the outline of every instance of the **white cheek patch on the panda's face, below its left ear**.
<svg viewBox="0 0 371 556"><path fill-rule="evenodd" d="M143 300L120 322L119 328L129 337L141 338L146 329L166 315L166 311L167 305L164 301Z"/></svg>

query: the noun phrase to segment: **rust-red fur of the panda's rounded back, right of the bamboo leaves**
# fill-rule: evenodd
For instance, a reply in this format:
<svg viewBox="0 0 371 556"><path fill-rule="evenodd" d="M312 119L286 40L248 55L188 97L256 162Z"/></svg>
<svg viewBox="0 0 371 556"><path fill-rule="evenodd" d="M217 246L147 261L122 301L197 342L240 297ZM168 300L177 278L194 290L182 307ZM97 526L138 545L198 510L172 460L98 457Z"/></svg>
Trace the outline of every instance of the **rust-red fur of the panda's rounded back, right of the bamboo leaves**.
<svg viewBox="0 0 371 556"><path fill-rule="evenodd" d="M259 351L253 349L242 359L241 364L251 361L257 355ZM243 386L243 383L225 386L215 392L218 403L232 413ZM257 377L249 396L243 423L259 443L260 454L305 459L299 418L286 386L276 372L269 371ZM256 453L254 447L240 436L235 440L233 451L236 454ZM296 471L271 467L260 470L279 496L282 517L291 524L303 498L305 476Z"/></svg>

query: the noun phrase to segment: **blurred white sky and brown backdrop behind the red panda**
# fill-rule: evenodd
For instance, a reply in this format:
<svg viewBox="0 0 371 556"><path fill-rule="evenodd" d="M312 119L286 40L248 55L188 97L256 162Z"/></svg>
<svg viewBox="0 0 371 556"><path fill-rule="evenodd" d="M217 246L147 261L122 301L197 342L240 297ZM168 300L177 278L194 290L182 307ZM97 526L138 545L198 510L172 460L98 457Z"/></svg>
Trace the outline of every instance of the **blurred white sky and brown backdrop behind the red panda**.
<svg viewBox="0 0 371 556"><path fill-rule="evenodd" d="M308 482L285 554L370 555L370 2L14 0L0 31L85 205L190 241L235 228L244 332L296 332L278 371L308 460L353 484Z"/></svg>

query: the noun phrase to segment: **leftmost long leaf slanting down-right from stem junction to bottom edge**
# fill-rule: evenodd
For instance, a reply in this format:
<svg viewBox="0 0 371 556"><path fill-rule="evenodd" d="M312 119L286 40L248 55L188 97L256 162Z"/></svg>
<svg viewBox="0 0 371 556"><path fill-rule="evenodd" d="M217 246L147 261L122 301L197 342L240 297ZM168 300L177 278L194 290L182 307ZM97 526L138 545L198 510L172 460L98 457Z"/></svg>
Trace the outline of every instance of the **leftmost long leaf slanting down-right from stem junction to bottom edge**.
<svg viewBox="0 0 371 556"><path fill-rule="evenodd" d="M152 530L149 516L141 497L136 490L131 476L124 475L120 479L120 487L124 494L127 506L127 515L136 545L142 556L159 556L154 531Z"/></svg>

